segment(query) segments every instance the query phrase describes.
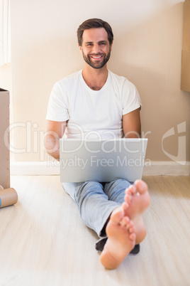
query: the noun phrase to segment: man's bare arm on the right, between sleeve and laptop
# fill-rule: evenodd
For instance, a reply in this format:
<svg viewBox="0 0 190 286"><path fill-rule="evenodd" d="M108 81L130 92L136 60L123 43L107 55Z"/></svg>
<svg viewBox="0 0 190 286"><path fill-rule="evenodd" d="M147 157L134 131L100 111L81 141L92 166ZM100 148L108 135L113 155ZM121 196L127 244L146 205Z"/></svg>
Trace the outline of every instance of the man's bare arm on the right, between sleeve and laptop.
<svg viewBox="0 0 190 286"><path fill-rule="evenodd" d="M125 138L140 138L140 108L123 115L123 133Z"/></svg>

